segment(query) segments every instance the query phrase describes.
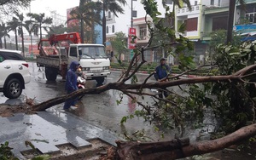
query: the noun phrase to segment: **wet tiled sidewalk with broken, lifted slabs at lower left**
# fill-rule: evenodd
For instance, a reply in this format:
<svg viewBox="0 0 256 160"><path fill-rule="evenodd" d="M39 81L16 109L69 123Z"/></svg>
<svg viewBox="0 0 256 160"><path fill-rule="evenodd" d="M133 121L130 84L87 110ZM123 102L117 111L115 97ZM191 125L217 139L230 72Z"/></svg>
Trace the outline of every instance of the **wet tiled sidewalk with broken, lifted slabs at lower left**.
<svg viewBox="0 0 256 160"><path fill-rule="evenodd" d="M118 140L113 134L67 111L55 109L32 115L17 113L14 117L0 117L0 122L0 143L9 141L15 156L20 159L34 155L32 148L26 147L26 140L31 141L39 153L53 157L72 156L84 148L86 151L99 151L100 147L107 149L109 145L115 146L114 141Z"/></svg>

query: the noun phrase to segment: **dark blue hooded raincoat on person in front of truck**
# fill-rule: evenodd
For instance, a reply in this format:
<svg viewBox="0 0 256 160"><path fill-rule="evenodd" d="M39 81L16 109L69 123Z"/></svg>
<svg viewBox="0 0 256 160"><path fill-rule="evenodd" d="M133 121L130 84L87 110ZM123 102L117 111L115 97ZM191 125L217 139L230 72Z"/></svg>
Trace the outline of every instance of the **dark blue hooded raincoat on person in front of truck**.
<svg viewBox="0 0 256 160"><path fill-rule="evenodd" d="M76 74L77 66L79 66L79 62L73 61L70 64L69 70L67 71L66 85L65 85L65 89L67 90L67 92L73 92L75 90L78 90L78 87L77 87L78 76Z"/></svg>

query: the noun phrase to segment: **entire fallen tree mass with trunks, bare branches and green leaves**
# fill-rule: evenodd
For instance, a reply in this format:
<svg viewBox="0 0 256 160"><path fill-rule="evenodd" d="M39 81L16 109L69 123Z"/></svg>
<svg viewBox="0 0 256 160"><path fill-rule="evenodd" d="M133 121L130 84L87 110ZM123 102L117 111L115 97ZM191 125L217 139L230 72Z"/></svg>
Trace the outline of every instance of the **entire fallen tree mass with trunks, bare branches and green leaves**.
<svg viewBox="0 0 256 160"><path fill-rule="evenodd" d="M145 116L145 118L148 116L153 117L153 120L150 121L154 121L155 119L160 118L161 114L166 114L166 117L168 117L169 114L172 114L172 117L169 117L169 119L167 118L167 120L173 118L175 119L174 121L176 126L180 125L183 127L182 118L185 111L191 111L191 115L193 116L197 116L197 114L203 115L204 106L212 105L213 108L213 105L215 105L216 108L213 108L212 110L216 111L216 115L219 117L227 118L230 122L235 123L234 126L231 127L232 129L236 129L236 131L233 132L234 130L229 130L230 133L233 132L232 134L227 132L226 134L228 135L224 136L223 138L217 140L201 141L194 144L190 144L189 139L150 143L142 143L136 141L117 141L118 147L116 150L109 150L108 157L104 157L105 159L148 160L189 157L192 155L218 151L255 135L256 124L252 123L247 127L241 128L242 126L245 126L244 122L254 122L255 120L255 100L253 99L255 98L255 95L253 94L254 91L248 91L248 89L255 89L255 86L253 87L255 84L254 76L256 70L256 65L254 63L256 48L254 43L248 45L245 44L241 46L241 48L236 49L232 46L219 47L217 49L218 54L216 55L214 61L215 63L211 67L208 66L209 75L211 76L208 75L206 77L180 79L180 77L184 74L189 74L189 71L196 71L196 69L203 67L199 66L195 69L192 62L193 57L185 55L185 53L188 51L187 49L191 49L193 44L182 35L180 35L179 39L176 41L175 31L173 31L172 28L164 27L162 25L163 20L158 18L159 12L155 7L156 3L154 1L143 1L143 4L147 14L149 14L153 19L152 22L149 22L145 19L148 25L148 30L150 32L148 45L145 48L135 50L135 54L132 57L129 66L127 68L123 68L124 72L120 75L119 80L116 83L108 83L93 89L81 89L72 94L46 100L40 104L32 106L32 110L44 111L51 106L55 106L66 100L73 99L84 94L101 94L107 90L115 89L119 90L123 94L126 94L133 100L133 102L137 103L139 106L142 106L143 111L141 113L143 116ZM172 15L170 13L168 14ZM172 25L173 24L169 26ZM167 43L164 42L164 45L161 43L152 47L150 44L152 43L155 36L153 28L154 26L162 31L163 34L167 34L168 37L171 38L171 41ZM147 78L145 78L143 83L137 83L136 73L138 69L146 63L144 58L144 51L147 49L158 49L162 46L164 46L163 49L166 49L166 51L170 53L172 52L169 50L170 46L175 46L176 50L174 52L179 55L179 66L184 72L177 76L168 75L166 79L171 81L148 83L148 79L154 75L153 72L150 73ZM127 83L128 80L131 80L132 83ZM199 89L198 86L193 86L194 84L198 83L205 85L205 89ZM144 89L163 90L167 87L180 86L184 84L192 87L192 89L187 92L189 94L189 98L166 90L171 94L171 98L165 99L164 101L166 101L166 104L168 105L171 104L172 107L167 105L157 107L148 106L147 104L144 104L143 101L137 100L136 97L136 95L141 97L150 96L154 100L162 101L163 99L160 99L157 94L144 92ZM212 100L208 98L207 94L205 93L207 92L206 90L211 92L211 94L214 94L216 99ZM192 108L192 110L190 108ZM252 117L247 117L247 115L249 115L246 112L247 108L249 108L249 111L253 112L251 114ZM188 114L190 114L190 112ZM230 117L238 118L232 119Z"/></svg>

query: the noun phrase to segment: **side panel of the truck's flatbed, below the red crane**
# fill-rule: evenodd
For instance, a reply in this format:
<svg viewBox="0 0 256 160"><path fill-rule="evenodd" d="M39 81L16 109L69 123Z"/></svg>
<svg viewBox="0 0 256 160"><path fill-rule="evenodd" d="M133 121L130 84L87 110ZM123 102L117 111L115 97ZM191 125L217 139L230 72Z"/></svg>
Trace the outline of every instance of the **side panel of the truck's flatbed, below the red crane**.
<svg viewBox="0 0 256 160"><path fill-rule="evenodd" d="M60 68L61 64L67 64L67 59L59 59L59 55L56 56L38 56L37 63L40 66L51 66L55 68Z"/></svg>

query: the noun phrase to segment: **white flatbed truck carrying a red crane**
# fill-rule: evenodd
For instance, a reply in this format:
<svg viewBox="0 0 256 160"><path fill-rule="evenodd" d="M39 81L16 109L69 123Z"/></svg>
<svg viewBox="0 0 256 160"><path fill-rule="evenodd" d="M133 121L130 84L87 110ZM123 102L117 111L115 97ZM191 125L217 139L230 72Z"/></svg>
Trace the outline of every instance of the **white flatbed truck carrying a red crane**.
<svg viewBox="0 0 256 160"><path fill-rule="evenodd" d="M38 43L38 49L38 66L45 66L45 76L49 81L55 81L58 74L65 79L67 66L73 60L79 61L87 80L101 84L110 74L110 60L104 45L81 43L78 32L51 35Z"/></svg>

